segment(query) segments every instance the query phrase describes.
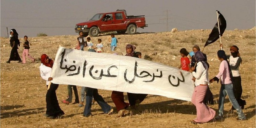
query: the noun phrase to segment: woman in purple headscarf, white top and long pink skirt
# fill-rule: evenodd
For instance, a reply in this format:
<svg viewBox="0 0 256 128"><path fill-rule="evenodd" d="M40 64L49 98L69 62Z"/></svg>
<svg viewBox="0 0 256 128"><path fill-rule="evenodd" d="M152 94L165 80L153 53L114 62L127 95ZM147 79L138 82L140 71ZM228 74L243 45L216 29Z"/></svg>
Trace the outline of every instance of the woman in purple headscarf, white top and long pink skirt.
<svg viewBox="0 0 256 128"><path fill-rule="evenodd" d="M194 72L195 68L190 69L190 72L192 72L192 75L196 78L196 87L191 99L191 102L196 106L196 119L191 121L193 124L208 122L215 116L215 111L203 103L206 91L209 88L206 58L202 52L197 51L195 53L195 59L197 62L196 72Z"/></svg>

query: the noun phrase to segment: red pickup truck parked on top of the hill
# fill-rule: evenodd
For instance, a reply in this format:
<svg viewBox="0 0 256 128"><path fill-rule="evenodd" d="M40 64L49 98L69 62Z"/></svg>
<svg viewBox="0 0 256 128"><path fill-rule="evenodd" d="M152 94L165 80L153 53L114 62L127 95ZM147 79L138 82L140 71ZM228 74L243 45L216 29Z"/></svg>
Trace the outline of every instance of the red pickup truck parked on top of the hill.
<svg viewBox="0 0 256 128"><path fill-rule="evenodd" d="M116 31L119 34L135 34L137 28L147 27L144 16L127 16L125 10L95 14L89 21L76 24L75 31L84 36L96 37L100 32Z"/></svg>

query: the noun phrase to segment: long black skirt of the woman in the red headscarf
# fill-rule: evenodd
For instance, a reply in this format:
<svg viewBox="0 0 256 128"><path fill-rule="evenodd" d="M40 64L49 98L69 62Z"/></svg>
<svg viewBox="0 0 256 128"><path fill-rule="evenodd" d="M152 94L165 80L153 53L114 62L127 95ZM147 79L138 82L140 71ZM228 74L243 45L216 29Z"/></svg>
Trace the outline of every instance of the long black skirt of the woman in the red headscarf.
<svg viewBox="0 0 256 128"><path fill-rule="evenodd" d="M49 116L59 116L64 115L64 111L60 109L56 90L58 89L59 84L51 83L50 89L46 93L46 114Z"/></svg>

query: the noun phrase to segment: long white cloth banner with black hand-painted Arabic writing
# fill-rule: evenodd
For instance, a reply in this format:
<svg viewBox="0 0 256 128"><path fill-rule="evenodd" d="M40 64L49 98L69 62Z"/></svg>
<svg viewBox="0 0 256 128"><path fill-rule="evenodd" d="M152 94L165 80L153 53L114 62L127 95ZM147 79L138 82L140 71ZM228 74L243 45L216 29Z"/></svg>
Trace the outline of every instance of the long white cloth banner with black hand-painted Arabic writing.
<svg viewBox="0 0 256 128"><path fill-rule="evenodd" d="M140 58L59 47L52 83L191 101L192 74Z"/></svg>

